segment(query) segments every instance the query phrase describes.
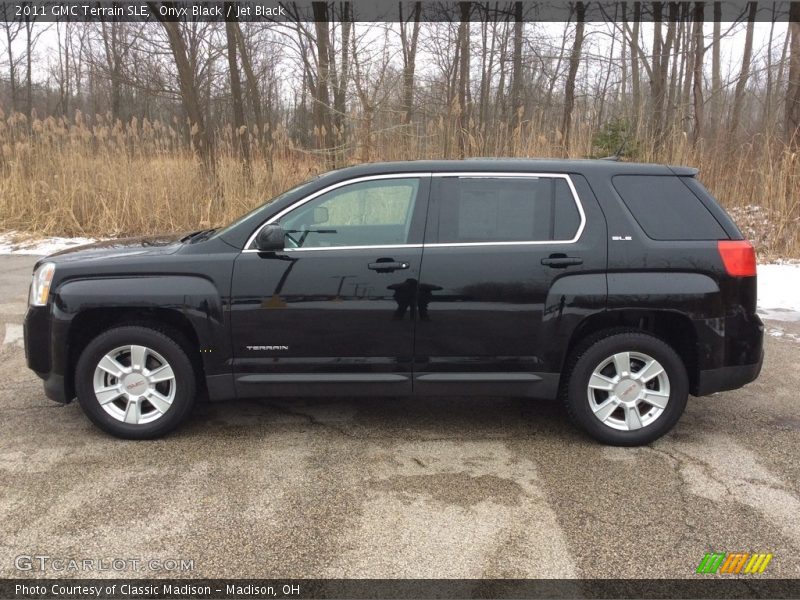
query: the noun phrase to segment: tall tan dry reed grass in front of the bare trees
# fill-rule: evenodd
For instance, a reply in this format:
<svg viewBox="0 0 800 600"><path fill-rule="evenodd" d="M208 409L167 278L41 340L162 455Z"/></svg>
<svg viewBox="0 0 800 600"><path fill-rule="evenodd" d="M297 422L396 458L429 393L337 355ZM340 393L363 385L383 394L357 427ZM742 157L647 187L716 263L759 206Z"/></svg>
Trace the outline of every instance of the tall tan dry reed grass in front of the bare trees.
<svg viewBox="0 0 800 600"><path fill-rule="evenodd" d="M223 132L212 174L174 124L113 124L103 116L93 122L86 125L78 115L74 121L34 119L29 126L22 115L0 113L0 229L119 236L216 226L326 170L322 159L294 148L281 130L273 133L266 156L254 148L249 175L234 157L230 132ZM358 132L354 139L363 142ZM388 128L364 145L351 148L345 161L456 158L462 152L445 121ZM570 152L556 135L535 126L474 132L462 145L467 156L592 153L591 132L581 128ZM800 257L800 157L779 141L693 145L675 133L660 151L640 150L637 158L700 168L704 184L737 220L747 221L740 224L762 258ZM746 208L752 206L760 208Z"/></svg>

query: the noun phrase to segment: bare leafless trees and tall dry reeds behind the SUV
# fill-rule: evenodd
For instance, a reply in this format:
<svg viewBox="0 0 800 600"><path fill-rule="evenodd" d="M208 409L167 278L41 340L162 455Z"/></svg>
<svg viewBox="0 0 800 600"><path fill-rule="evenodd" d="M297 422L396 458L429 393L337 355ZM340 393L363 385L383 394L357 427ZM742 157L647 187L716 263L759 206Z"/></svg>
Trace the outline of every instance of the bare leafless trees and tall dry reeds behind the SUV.
<svg viewBox="0 0 800 600"><path fill-rule="evenodd" d="M359 162L618 154L699 167L762 255L800 256L800 2L735 22L719 2L619 2L604 22L574 2L561 23L533 2L437 20L403 2L391 23L356 6L286 23L5 14L0 227L196 229Z"/></svg>

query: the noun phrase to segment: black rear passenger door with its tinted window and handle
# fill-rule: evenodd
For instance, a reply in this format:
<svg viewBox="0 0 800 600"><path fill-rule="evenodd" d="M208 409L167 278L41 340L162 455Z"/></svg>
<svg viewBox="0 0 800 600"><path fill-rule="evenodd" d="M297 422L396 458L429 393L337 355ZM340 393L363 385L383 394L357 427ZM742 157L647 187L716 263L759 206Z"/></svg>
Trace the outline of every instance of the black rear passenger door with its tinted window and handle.
<svg viewBox="0 0 800 600"><path fill-rule="evenodd" d="M605 223L573 179L433 177L415 393L553 395L571 328L605 304Z"/></svg>

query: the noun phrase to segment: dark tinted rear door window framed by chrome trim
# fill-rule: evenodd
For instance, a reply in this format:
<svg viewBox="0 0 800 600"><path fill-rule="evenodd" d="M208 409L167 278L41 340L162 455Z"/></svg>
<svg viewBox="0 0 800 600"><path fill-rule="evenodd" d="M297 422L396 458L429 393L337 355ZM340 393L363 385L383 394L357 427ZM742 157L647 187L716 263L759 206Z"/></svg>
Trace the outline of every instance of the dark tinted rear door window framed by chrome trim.
<svg viewBox="0 0 800 600"><path fill-rule="evenodd" d="M445 178L440 243L570 240L580 226L562 178Z"/></svg>

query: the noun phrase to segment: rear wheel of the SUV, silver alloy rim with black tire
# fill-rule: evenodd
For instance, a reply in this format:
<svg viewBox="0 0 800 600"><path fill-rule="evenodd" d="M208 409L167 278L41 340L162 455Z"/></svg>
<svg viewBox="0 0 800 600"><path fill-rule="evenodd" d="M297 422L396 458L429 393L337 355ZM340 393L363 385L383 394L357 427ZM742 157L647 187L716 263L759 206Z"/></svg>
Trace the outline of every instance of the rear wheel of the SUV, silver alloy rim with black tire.
<svg viewBox="0 0 800 600"><path fill-rule="evenodd" d="M648 444L677 423L689 395L686 367L663 340L608 332L573 355L564 401L595 439L616 446Z"/></svg>

